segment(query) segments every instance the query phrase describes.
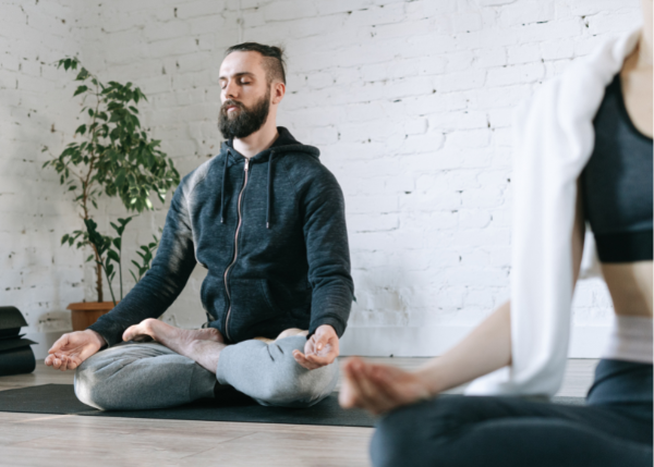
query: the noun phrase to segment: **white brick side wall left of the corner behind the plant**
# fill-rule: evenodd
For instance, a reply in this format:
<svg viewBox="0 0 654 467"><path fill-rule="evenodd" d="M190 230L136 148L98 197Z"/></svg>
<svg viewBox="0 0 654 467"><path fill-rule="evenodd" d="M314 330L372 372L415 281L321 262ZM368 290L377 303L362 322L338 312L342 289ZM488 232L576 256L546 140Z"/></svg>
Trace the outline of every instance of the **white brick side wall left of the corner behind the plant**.
<svg viewBox="0 0 654 467"><path fill-rule="evenodd" d="M70 329L66 305L84 297L83 255L59 247L74 208L56 174L41 171L41 149L57 153L76 126L74 88L53 65L80 51L74 7L0 4L0 306L23 311L41 355Z"/></svg>

